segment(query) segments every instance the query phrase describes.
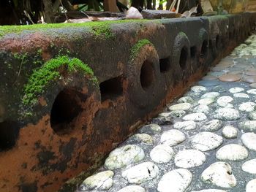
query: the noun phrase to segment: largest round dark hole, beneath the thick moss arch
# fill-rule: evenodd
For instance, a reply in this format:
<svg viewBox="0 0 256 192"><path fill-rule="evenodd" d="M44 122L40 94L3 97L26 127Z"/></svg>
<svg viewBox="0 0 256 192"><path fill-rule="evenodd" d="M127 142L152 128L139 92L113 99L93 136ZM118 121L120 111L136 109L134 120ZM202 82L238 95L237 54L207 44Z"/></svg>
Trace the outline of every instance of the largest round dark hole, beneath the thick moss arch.
<svg viewBox="0 0 256 192"><path fill-rule="evenodd" d="M56 133L65 134L72 129L72 120L82 111L79 102L85 97L82 93L71 88L61 91L50 111L50 125Z"/></svg>

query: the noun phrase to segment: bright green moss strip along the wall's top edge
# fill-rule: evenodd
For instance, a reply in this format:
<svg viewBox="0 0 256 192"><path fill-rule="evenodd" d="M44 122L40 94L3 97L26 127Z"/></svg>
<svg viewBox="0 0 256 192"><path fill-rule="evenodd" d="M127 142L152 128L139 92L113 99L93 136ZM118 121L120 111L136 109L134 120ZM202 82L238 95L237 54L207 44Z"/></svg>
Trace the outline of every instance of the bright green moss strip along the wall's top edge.
<svg viewBox="0 0 256 192"><path fill-rule="evenodd" d="M0 37L6 34L20 34L23 31L47 31L50 28L90 28L93 33L99 37L106 38L113 37L110 26L118 23L145 23L151 22L149 20L108 20L95 21L86 23L55 23L55 24L35 24L27 26L0 26Z"/></svg>

